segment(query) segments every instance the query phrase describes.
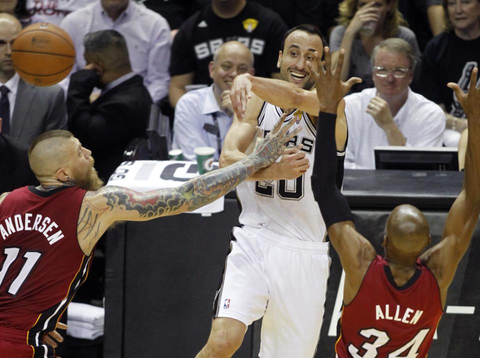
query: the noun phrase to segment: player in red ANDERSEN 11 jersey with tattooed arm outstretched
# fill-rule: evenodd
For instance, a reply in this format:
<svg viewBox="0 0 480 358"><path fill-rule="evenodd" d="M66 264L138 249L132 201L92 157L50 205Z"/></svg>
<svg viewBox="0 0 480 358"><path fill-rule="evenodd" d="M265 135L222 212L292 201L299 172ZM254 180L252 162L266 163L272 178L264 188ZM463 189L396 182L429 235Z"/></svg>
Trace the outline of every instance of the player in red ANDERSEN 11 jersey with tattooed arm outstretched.
<svg viewBox="0 0 480 358"><path fill-rule="evenodd" d="M287 133L289 124L280 128L283 119L241 162L144 193L102 187L92 152L71 132L38 136L29 160L41 184L0 195L0 356L53 358L46 332L58 327L107 228L191 211L224 195L283 153L297 133Z"/></svg>

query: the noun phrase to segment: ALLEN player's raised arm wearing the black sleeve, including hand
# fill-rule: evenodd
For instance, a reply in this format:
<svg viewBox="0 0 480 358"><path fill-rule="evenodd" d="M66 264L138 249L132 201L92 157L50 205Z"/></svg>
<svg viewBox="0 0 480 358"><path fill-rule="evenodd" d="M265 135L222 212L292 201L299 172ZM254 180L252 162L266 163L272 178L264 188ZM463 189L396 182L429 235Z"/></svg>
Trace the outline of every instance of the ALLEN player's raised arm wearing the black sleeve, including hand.
<svg viewBox="0 0 480 358"><path fill-rule="evenodd" d="M312 66L320 113L317 122L315 141L315 162L313 164L312 189L315 200L328 229L330 241L335 247L342 267L345 270L345 288L343 301L349 303L355 297L368 265L375 257L371 243L355 230L353 214L348 203L335 185L336 145L335 122L337 106L351 85L359 79L341 82L340 73L343 62L343 50L338 59L335 71L330 70L331 58L328 47L325 47L325 68L320 73ZM316 54L318 59L318 56Z"/></svg>

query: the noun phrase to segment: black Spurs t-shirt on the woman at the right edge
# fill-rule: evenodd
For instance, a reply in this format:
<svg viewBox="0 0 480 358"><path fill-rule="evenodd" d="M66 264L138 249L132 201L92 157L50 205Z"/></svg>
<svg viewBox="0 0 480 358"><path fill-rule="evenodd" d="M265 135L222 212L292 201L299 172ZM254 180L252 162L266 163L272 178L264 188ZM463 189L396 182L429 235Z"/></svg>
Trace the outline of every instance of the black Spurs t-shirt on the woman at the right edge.
<svg viewBox="0 0 480 358"><path fill-rule="evenodd" d="M448 82L458 83L466 92L470 74L480 64L480 37L463 40L452 32L433 37L425 47L421 62L423 95L435 103L443 103L447 113L465 117ZM480 82L480 79L479 79Z"/></svg>

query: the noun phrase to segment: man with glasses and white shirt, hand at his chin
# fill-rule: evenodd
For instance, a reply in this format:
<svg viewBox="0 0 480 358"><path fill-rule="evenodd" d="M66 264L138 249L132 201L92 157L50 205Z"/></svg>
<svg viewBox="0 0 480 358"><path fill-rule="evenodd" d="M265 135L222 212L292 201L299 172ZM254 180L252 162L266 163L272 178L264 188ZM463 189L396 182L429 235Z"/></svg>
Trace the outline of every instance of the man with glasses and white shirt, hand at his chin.
<svg viewBox="0 0 480 358"><path fill-rule="evenodd" d="M415 60L413 48L401 38L388 38L373 49L375 87L345 96L345 167L374 169L376 145L442 145L445 114L408 86Z"/></svg>

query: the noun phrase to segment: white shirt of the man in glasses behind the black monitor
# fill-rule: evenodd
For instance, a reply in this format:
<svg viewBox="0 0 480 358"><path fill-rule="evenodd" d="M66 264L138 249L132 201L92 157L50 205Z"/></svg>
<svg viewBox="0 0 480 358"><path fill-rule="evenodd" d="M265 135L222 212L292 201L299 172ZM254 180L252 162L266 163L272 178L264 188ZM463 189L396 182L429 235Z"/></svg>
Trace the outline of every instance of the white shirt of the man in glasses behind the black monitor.
<svg viewBox="0 0 480 358"><path fill-rule="evenodd" d="M348 144L345 167L375 169L373 148L389 145L385 131L366 112L367 105L377 94L367 88L345 96L345 115L348 122ZM407 146L441 146L445 130L445 113L440 106L408 88L408 97L393 121L406 138Z"/></svg>

